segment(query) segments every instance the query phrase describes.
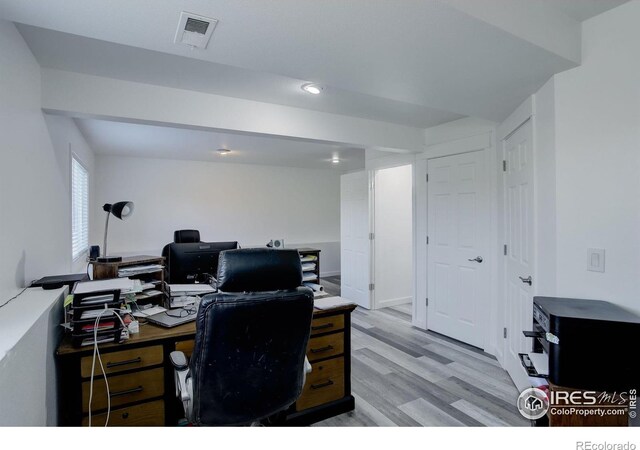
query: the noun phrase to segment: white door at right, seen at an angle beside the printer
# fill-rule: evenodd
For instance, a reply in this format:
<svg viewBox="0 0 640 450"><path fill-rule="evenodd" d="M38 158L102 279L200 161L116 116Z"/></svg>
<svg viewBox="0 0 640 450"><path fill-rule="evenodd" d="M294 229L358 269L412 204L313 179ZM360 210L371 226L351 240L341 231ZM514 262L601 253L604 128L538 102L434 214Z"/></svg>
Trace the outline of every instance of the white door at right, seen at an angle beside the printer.
<svg viewBox="0 0 640 450"><path fill-rule="evenodd" d="M531 120L503 141L504 172L506 355L505 369L518 389L528 380L518 353L530 352L523 330L533 322L533 133Z"/></svg>

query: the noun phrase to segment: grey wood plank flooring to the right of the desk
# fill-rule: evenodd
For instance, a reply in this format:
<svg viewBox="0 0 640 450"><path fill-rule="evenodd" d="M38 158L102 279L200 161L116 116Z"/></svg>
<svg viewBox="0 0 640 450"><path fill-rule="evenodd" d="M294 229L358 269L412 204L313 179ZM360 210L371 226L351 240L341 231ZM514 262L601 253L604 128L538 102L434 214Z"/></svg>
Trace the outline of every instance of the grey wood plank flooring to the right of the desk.
<svg viewBox="0 0 640 450"><path fill-rule="evenodd" d="M322 279L340 295L340 277ZM356 409L313 426L530 426L507 373L482 350L411 326L411 305L352 314Z"/></svg>

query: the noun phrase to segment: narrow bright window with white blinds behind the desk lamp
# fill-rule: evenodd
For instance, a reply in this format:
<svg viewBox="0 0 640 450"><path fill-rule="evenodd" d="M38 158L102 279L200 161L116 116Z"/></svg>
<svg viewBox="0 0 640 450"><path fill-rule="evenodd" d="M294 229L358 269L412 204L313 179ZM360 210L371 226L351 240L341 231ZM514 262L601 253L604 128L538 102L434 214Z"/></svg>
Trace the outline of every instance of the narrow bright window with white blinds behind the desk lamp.
<svg viewBox="0 0 640 450"><path fill-rule="evenodd" d="M89 172L71 157L71 255L73 260L89 248Z"/></svg>

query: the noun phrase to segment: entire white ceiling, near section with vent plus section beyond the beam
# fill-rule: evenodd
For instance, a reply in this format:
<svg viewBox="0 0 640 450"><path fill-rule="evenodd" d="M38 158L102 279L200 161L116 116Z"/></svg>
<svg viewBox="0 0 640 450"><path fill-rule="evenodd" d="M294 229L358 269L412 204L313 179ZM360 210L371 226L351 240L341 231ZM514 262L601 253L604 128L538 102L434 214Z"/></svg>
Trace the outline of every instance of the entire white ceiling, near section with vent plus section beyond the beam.
<svg viewBox="0 0 640 450"><path fill-rule="evenodd" d="M576 65L536 37L553 41L551 28L565 27L579 56L578 22L625 2L503 0L509 8L502 8L500 0L483 0L474 14L464 1L0 0L0 18L18 24L43 67L427 128L464 116L503 120L549 77ZM542 16L525 13L532 4ZM173 43L182 11L219 20L206 50ZM555 16L564 19L544 21ZM511 27L498 23L505 18L514 19ZM529 31L519 34L517 20ZM325 90L308 95L304 82ZM237 150L224 157L229 162L364 165L363 149L326 143L77 123L103 154L220 160L212 150L228 146ZM328 162L336 151L344 159L338 167Z"/></svg>

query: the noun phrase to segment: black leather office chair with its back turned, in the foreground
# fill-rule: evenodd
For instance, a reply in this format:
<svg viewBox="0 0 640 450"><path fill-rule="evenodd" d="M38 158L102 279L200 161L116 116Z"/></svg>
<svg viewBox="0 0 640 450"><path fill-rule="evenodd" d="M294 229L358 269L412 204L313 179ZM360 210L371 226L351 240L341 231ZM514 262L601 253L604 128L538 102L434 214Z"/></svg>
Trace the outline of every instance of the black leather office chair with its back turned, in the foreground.
<svg viewBox="0 0 640 450"><path fill-rule="evenodd" d="M302 392L313 292L296 250L220 253L218 289L202 299L191 361L172 352L176 390L195 425L248 425Z"/></svg>

